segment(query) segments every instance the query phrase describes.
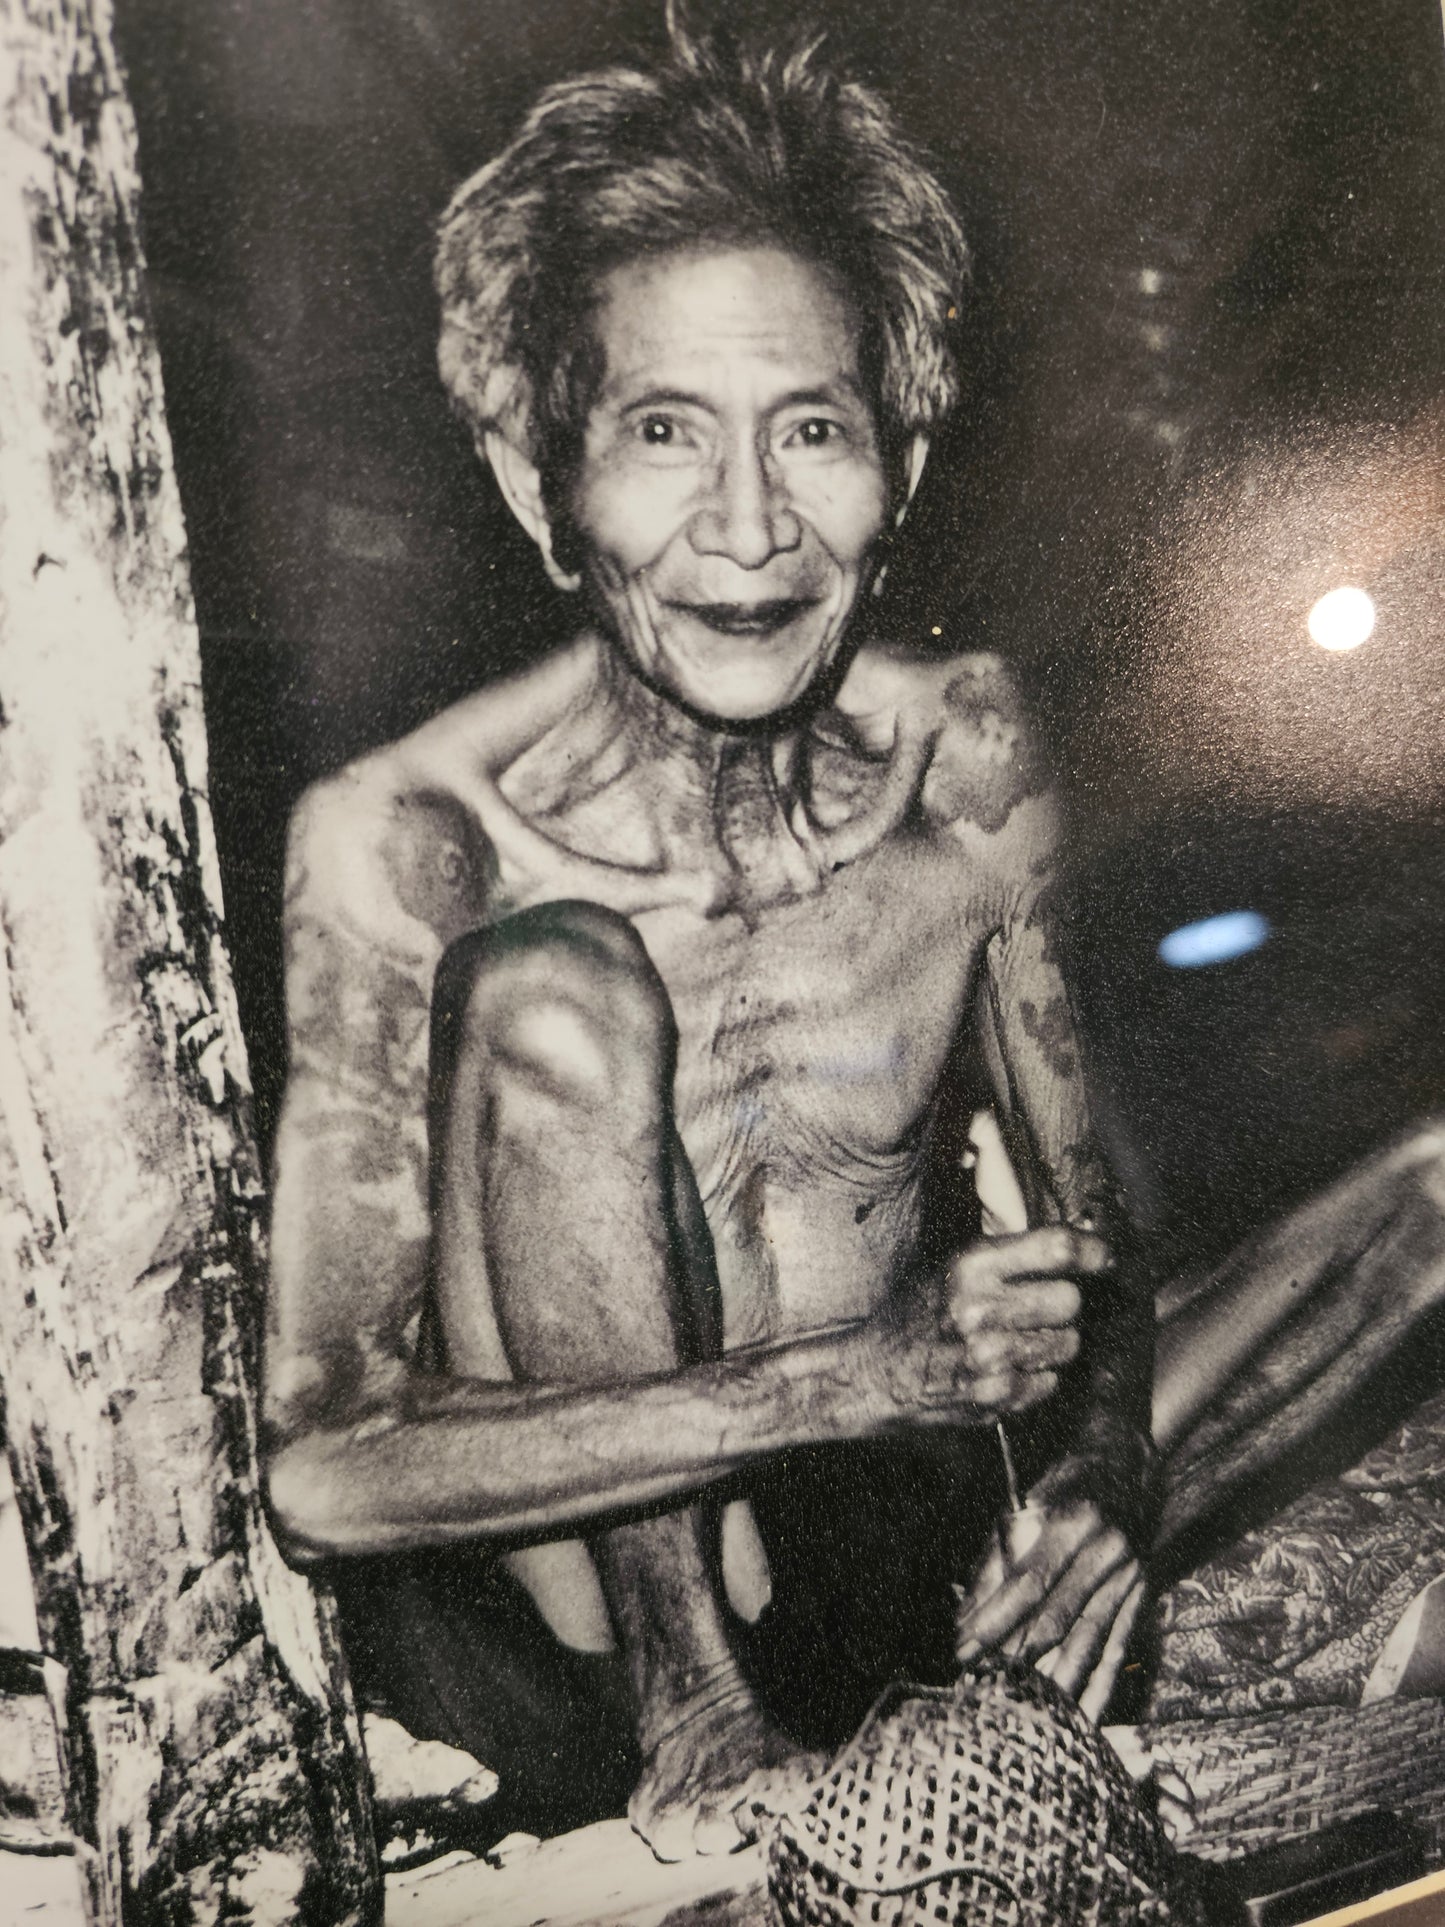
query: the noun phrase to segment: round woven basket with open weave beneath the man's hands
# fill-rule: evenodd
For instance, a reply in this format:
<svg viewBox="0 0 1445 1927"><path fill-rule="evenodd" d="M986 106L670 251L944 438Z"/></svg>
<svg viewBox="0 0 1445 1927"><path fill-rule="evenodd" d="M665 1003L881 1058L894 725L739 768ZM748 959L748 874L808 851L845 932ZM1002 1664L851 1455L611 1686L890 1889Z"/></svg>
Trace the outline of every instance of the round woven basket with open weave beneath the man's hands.
<svg viewBox="0 0 1445 1927"><path fill-rule="evenodd" d="M1156 1927L1169 1852L1033 1669L892 1686L769 1846L782 1927Z"/></svg>

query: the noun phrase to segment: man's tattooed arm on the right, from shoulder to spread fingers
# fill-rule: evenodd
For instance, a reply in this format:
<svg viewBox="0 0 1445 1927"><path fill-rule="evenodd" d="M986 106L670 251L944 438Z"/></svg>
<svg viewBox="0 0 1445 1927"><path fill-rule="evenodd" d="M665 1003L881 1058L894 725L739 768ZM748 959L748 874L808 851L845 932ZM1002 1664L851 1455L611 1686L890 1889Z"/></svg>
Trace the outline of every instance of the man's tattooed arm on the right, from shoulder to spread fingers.
<svg viewBox="0 0 1445 1927"><path fill-rule="evenodd" d="M950 686L954 829L992 879L992 935L979 1031L1031 1224L1090 1226L1116 1264L1085 1293L1083 1349L1050 1407L1062 1451L1031 1501L1044 1530L959 1632L983 1650L1023 1624L1023 1651L1060 1648L1054 1676L1077 1690L1141 1597L1135 1551L1156 1503L1150 1439L1154 1303L1089 1120L1079 1041L1056 952L1058 807L1004 671L979 659ZM1114 1640L1112 1667L1121 1657ZM1112 1684L1090 1688L1096 1711Z"/></svg>

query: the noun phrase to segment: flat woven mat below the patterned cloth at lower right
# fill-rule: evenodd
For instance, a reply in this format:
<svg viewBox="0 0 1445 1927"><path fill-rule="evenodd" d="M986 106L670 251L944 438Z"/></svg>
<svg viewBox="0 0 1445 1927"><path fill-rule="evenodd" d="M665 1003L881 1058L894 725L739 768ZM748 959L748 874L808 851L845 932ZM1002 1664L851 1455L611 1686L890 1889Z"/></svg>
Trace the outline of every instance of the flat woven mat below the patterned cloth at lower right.
<svg viewBox="0 0 1445 1927"><path fill-rule="evenodd" d="M1191 1854L1225 1860L1387 1808L1414 1819L1430 1865L1445 1865L1441 1700L1179 1719L1141 1736L1195 1794Z"/></svg>

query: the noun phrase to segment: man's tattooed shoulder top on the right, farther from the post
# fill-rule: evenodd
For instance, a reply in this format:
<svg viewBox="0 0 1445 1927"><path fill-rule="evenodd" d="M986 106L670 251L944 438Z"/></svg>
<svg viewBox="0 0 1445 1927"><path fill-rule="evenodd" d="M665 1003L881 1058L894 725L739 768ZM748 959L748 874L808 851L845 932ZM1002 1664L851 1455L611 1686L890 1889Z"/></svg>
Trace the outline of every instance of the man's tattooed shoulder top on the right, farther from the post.
<svg viewBox="0 0 1445 1927"><path fill-rule="evenodd" d="M1000 655L861 649L838 707L880 746L898 730L929 740L921 802L934 827L1000 854L1052 844L1054 771Z"/></svg>

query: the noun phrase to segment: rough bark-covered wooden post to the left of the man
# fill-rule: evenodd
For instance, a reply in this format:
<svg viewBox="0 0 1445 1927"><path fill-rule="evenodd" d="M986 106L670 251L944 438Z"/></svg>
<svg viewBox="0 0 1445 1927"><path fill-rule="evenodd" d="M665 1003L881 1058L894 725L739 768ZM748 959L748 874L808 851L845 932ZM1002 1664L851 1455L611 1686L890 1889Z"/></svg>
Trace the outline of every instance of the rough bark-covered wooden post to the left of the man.
<svg viewBox="0 0 1445 1927"><path fill-rule="evenodd" d="M94 1919L376 1908L256 1482L260 1183L106 0L0 0L0 1384Z"/></svg>

